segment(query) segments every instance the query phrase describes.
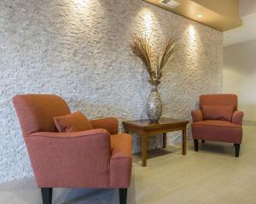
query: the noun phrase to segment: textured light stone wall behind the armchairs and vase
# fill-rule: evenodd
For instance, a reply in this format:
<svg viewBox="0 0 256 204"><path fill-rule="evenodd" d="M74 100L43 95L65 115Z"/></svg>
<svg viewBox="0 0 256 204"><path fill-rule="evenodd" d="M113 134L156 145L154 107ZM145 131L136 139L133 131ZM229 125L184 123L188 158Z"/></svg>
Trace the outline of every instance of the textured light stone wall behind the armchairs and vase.
<svg viewBox="0 0 256 204"><path fill-rule="evenodd" d="M177 39L160 84L164 116L190 120L200 94L221 92L222 33L210 27L140 0L1 0L0 183L32 175L15 94L59 94L90 118L146 117L150 86L127 53L132 33L151 35L154 46ZM174 133L168 143L179 140ZM160 143L152 138L149 146ZM134 135L133 150L140 144Z"/></svg>

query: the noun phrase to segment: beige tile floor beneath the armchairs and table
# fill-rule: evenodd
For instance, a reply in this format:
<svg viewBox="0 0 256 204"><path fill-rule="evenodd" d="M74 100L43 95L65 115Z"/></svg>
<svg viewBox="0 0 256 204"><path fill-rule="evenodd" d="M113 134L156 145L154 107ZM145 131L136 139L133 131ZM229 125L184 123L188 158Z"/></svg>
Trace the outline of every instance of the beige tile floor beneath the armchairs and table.
<svg viewBox="0 0 256 204"><path fill-rule="evenodd" d="M148 167L134 156L128 203L137 204L254 204L256 203L256 127L244 127L241 157L232 144L200 144L188 155L179 148L149 152ZM161 156L156 156L156 155ZM55 189L54 204L115 204L117 190ZM37 204L40 190L33 178L0 185L0 203Z"/></svg>

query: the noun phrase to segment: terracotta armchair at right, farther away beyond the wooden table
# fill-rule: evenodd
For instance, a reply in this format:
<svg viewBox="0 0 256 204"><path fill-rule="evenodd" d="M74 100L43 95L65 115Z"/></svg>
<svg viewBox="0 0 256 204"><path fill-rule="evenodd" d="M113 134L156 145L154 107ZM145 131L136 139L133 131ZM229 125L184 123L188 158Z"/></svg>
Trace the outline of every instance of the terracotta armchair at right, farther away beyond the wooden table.
<svg viewBox="0 0 256 204"><path fill-rule="evenodd" d="M207 110L208 107L211 108ZM201 139L202 142L211 140L233 143L236 157L239 156L243 112L237 111L236 95L201 95L200 109L192 111L191 115L193 118L192 135L195 151L198 151L198 139Z"/></svg>

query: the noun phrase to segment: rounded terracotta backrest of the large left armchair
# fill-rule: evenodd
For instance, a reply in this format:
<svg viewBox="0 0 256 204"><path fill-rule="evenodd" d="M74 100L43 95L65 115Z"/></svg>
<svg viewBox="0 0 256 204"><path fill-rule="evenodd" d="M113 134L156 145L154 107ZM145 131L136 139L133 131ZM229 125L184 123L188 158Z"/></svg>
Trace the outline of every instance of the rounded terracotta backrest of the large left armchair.
<svg viewBox="0 0 256 204"><path fill-rule="evenodd" d="M57 132L54 117L70 113L65 100L56 95L16 95L13 102L24 136L36 132Z"/></svg>

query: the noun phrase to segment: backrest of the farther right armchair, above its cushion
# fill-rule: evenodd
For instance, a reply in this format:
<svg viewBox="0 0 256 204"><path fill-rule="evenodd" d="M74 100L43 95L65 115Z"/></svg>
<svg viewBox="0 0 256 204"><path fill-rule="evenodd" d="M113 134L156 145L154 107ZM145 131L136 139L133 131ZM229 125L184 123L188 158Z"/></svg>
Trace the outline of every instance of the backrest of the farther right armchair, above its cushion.
<svg viewBox="0 0 256 204"><path fill-rule="evenodd" d="M234 105L234 111L237 111L237 96L235 94L201 95L201 109L202 105Z"/></svg>

